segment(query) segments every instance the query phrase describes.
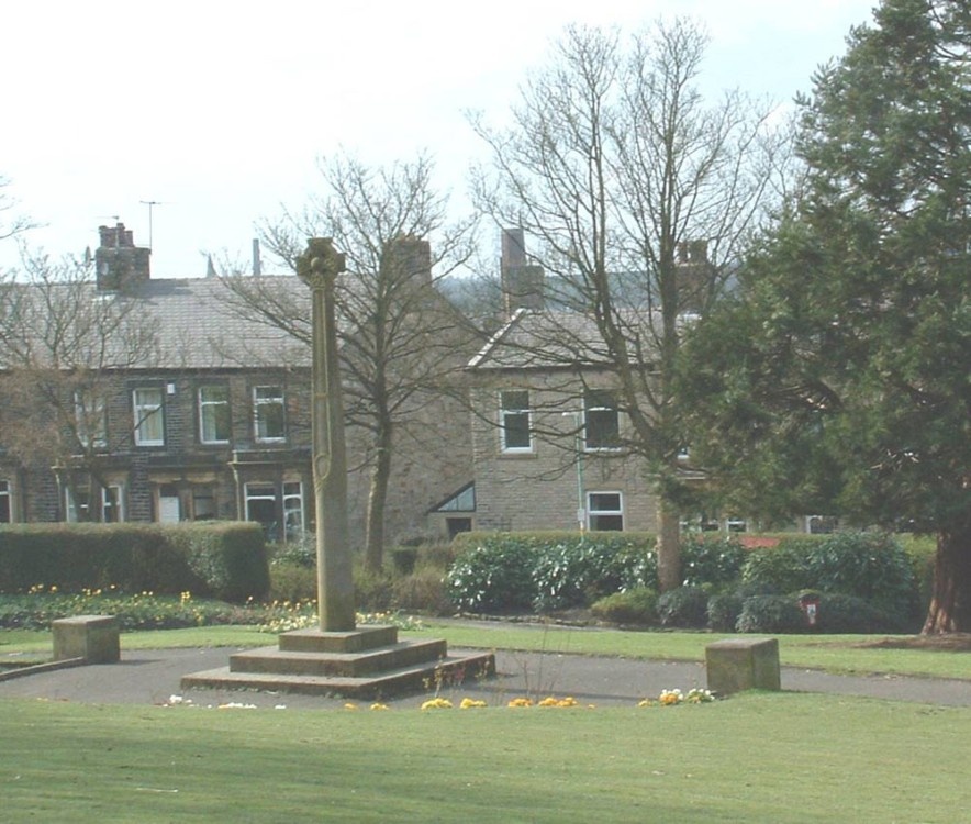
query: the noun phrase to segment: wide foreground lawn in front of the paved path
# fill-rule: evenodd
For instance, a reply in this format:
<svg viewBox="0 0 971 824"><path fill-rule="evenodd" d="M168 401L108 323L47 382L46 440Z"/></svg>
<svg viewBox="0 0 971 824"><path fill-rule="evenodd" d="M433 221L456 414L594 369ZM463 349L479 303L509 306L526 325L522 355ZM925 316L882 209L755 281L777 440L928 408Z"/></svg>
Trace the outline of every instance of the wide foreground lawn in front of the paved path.
<svg viewBox="0 0 971 824"><path fill-rule="evenodd" d="M649 709L0 710L9 821L971 820L962 709L748 693Z"/></svg>

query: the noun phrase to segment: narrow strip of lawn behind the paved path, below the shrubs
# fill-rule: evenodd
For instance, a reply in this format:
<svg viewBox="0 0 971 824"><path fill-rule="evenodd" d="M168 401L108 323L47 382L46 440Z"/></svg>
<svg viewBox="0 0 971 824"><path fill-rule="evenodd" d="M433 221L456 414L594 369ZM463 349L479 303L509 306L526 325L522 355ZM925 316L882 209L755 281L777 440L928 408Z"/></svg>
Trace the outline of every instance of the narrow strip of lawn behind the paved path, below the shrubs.
<svg viewBox="0 0 971 824"><path fill-rule="evenodd" d="M622 632L614 630L576 630L550 626L537 628L516 624L428 622L418 632L402 637L444 637L451 647L486 649L546 650L578 655L624 658L704 660L704 648L719 638L713 633ZM917 675L934 678L971 680L971 653L918 649L861 648L872 641L867 635L779 635L779 655L783 666L826 669L832 672ZM122 649L193 646L263 646L276 643L276 636L250 626L212 626L125 633ZM49 656L53 644L45 632L0 631L0 662L9 653Z"/></svg>

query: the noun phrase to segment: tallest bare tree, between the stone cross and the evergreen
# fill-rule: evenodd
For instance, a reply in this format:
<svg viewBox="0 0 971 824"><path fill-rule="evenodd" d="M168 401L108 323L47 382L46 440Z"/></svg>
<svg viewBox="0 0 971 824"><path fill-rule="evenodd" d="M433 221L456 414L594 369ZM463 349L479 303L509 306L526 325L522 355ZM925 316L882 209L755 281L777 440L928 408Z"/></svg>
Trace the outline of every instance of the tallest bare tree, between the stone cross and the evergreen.
<svg viewBox="0 0 971 824"><path fill-rule="evenodd" d="M704 101L707 42L681 19L629 40L569 27L507 129L472 118L492 149L476 179L478 204L529 236L563 316L589 320L553 329L550 314L546 357L558 350L562 365L612 372L630 422L623 446L656 480L663 589L681 578L674 359L690 318L729 279L785 157L769 104L737 91Z"/></svg>

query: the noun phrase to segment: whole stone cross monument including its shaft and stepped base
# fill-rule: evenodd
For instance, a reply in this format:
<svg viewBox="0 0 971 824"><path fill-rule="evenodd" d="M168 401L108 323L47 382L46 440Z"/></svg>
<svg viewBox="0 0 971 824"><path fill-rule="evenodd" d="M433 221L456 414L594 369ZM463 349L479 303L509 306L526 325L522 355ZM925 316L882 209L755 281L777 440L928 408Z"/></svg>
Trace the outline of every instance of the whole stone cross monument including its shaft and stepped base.
<svg viewBox="0 0 971 824"><path fill-rule="evenodd" d="M434 679L495 672L491 653L450 656L444 641L398 639L393 626L355 626L353 557L347 532L347 458L337 358L334 287L344 255L312 237L297 259L311 290L312 438L316 508L319 630L280 635L279 648L230 656L230 666L182 678L182 689L217 687L379 698Z"/></svg>

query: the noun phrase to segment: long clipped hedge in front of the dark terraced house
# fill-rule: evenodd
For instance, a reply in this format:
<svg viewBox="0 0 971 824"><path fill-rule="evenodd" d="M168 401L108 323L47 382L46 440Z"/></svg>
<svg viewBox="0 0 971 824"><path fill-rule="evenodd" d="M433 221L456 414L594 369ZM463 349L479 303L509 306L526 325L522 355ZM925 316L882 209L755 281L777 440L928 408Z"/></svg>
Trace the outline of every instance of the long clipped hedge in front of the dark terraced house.
<svg viewBox="0 0 971 824"><path fill-rule="evenodd" d="M107 589L241 602L269 589L258 524L13 524L0 528L0 592Z"/></svg>

